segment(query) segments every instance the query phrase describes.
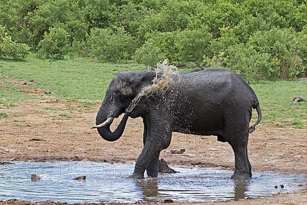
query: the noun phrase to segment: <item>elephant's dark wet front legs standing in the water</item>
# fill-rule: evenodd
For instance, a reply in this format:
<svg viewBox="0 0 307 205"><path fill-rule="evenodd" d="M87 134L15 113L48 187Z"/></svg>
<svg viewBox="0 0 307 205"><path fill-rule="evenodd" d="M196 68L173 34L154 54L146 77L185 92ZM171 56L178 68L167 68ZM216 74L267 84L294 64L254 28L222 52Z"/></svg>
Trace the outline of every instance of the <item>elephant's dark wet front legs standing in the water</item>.
<svg viewBox="0 0 307 205"><path fill-rule="evenodd" d="M145 125L145 124L144 124ZM134 173L129 178L143 179L147 169L149 177L158 176L158 160L160 152L170 144L171 129L169 125L159 124L156 121L146 125L147 136L142 153L137 159Z"/></svg>

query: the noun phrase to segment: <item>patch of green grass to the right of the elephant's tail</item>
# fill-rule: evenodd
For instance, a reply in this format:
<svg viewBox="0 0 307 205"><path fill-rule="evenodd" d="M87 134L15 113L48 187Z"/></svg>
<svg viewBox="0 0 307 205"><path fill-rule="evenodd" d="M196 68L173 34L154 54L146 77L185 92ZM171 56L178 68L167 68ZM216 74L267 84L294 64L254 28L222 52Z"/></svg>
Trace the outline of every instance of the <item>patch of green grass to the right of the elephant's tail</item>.
<svg viewBox="0 0 307 205"><path fill-rule="evenodd" d="M262 123L300 121L307 119L307 104L305 102L293 105L294 97L301 96L307 99L307 81L260 81L252 84L262 111ZM255 112L254 112L255 113ZM254 116L255 117L255 114ZM288 119L288 121L284 120ZM288 123L289 124L289 123ZM303 125L297 126L304 128Z"/></svg>

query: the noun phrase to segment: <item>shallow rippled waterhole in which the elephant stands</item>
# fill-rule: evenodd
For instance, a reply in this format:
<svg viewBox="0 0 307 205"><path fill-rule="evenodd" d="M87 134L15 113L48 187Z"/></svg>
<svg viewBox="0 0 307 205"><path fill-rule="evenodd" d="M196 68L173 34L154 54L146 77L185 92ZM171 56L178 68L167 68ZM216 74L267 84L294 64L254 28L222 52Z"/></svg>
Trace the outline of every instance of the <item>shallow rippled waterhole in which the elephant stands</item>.
<svg viewBox="0 0 307 205"><path fill-rule="evenodd" d="M180 173L157 179L126 179L133 164L100 162L15 162L0 166L0 200L135 202L218 201L291 192L305 185L304 175L254 172L250 180L232 180L231 171L172 167ZM40 181L31 181L31 174ZM73 178L86 175L85 181ZM280 185L284 185L281 189ZM274 188L278 186L278 188Z"/></svg>

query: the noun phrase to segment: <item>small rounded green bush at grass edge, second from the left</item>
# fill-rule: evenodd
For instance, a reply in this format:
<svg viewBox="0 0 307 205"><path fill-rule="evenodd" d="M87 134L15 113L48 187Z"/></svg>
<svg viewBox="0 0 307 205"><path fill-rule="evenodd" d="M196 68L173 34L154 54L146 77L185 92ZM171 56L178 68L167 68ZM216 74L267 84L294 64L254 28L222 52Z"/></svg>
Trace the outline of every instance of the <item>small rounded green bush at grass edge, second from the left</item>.
<svg viewBox="0 0 307 205"><path fill-rule="evenodd" d="M61 27L50 28L38 43L38 55L42 58L62 59L68 52L68 32Z"/></svg>

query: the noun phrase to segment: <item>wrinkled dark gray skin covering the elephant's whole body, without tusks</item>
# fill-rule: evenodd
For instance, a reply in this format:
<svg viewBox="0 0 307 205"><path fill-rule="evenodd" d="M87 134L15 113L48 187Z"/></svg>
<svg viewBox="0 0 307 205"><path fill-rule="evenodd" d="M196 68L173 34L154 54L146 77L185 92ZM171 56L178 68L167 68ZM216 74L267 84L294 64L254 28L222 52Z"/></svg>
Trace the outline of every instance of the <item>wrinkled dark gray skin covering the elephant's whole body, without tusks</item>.
<svg viewBox="0 0 307 205"><path fill-rule="evenodd" d="M252 88L239 75L226 69L206 69L180 73L164 93L143 97L131 113L125 112L134 97L155 77L153 71L118 73L109 85L96 117L96 125L108 117L125 113L119 126L111 132L109 126L98 128L102 138L119 139L128 117L142 117L144 148L130 178L143 179L158 175L160 152L171 141L172 132L194 135L215 135L218 141L228 142L235 155L233 179L252 176L247 154L249 132L261 119L258 99ZM258 121L249 128L252 109ZM206 141L204 141L206 143ZM218 157L216 156L217 160Z"/></svg>

